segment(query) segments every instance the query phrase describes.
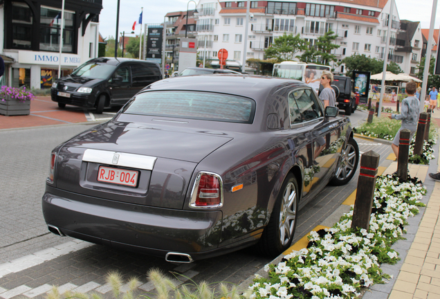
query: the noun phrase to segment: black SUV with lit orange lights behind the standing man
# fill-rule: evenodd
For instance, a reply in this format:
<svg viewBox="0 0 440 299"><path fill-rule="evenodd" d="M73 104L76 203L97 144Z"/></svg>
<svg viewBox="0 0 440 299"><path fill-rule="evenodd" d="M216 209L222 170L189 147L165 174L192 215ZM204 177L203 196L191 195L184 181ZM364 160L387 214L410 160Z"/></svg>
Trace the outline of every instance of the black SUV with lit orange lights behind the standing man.
<svg viewBox="0 0 440 299"><path fill-rule="evenodd" d="M338 89L339 96L336 98L339 109L345 110L345 115L349 116L359 105L359 94L354 91L354 80L347 76L333 76L333 89Z"/></svg>

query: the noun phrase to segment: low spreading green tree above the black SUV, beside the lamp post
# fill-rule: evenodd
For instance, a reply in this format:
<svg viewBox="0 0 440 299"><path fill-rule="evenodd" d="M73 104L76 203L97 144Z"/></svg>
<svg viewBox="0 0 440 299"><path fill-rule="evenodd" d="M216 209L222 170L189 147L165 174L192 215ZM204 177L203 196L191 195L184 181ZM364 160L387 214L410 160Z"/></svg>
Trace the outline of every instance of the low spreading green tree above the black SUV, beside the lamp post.
<svg viewBox="0 0 440 299"><path fill-rule="evenodd" d="M369 71L372 75L381 73L383 71L383 61L376 58L367 57L363 55L351 55L345 57L340 64L347 66L346 75L351 77L352 71ZM389 62L387 65L387 71L398 74L402 73L401 68L395 62Z"/></svg>

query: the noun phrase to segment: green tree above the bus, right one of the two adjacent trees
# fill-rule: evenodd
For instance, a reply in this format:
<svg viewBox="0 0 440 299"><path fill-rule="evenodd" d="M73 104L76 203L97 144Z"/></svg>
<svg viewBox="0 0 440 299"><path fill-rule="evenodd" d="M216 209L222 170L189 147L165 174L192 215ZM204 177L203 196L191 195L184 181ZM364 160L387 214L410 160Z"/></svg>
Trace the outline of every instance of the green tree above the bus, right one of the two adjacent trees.
<svg viewBox="0 0 440 299"><path fill-rule="evenodd" d="M331 54L331 50L340 47L334 43L335 39L335 33L331 30L327 31L324 35L318 37L315 45L306 48L300 56L300 60L302 62L318 62L330 65L330 62L336 61L336 55Z"/></svg>

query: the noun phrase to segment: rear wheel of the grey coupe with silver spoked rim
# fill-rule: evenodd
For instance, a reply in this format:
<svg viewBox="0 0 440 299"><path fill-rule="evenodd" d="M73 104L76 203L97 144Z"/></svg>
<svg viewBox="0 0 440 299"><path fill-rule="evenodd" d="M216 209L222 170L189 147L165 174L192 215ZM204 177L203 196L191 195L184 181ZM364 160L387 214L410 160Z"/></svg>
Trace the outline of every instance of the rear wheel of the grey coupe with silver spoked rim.
<svg viewBox="0 0 440 299"><path fill-rule="evenodd" d="M277 256L291 246L297 223L298 190L295 176L288 174L279 190L271 219L257 244L261 253Z"/></svg>

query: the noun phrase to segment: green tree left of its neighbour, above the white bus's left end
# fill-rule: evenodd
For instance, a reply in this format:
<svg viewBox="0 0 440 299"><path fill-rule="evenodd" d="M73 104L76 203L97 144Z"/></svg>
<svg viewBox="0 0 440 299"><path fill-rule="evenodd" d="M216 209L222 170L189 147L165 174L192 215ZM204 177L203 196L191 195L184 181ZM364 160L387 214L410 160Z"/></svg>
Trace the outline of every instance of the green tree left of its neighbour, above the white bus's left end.
<svg viewBox="0 0 440 299"><path fill-rule="evenodd" d="M292 34L275 37L273 44L265 51L266 57L275 58L277 62L285 60L293 60L296 53L306 49L306 42L299 34L293 36Z"/></svg>

